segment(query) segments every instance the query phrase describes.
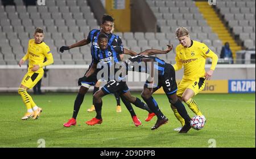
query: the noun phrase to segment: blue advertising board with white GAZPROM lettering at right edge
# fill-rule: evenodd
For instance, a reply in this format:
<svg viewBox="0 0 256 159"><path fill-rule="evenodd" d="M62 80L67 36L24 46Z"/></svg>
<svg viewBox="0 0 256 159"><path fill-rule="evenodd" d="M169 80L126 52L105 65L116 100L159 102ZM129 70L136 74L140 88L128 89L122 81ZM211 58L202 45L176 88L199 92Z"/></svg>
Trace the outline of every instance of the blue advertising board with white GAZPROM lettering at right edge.
<svg viewBox="0 0 256 159"><path fill-rule="evenodd" d="M229 80L229 93L255 93L255 80Z"/></svg>

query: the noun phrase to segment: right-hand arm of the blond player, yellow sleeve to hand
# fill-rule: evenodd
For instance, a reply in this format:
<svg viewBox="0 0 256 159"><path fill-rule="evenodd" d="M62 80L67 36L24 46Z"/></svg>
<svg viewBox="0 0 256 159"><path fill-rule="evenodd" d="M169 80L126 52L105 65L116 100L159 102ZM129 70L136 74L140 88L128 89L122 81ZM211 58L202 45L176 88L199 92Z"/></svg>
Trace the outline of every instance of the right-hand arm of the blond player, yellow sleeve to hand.
<svg viewBox="0 0 256 159"><path fill-rule="evenodd" d="M210 50L210 49L207 47L207 45L205 45L205 44L203 44L201 50L202 50L202 53L203 53L203 55L204 55L205 57L212 59L212 65L210 66L210 70L207 71L207 72L205 73L205 75L204 75L204 76L205 76L205 79L206 79L206 80L209 80L210 77L213 75L213 72L214 72L215 67L216 67L216 65L217 65L218 56L217 56L212 50Z"/></svg>

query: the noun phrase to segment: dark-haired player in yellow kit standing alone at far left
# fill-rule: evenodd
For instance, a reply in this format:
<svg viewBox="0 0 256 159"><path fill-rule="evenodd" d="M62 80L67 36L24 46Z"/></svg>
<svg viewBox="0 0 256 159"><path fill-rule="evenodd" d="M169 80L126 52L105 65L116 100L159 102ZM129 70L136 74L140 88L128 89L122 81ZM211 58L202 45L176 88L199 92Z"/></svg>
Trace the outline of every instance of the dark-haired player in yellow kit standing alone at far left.
<svg viewBox="0 0 256 159"><path fill-rule="evenodd" d="M28 41L27 54L19 61L19 66L21 66L27 59L29 61L27 74L22 79L18 89L18 93L27 107L27 113L22 117L22 120L28 118L37 119L42 112L42 108L36 106L30 94L27 93L27 89L34 87L34 85L42 78L44 75L43 67L53 63L51 50L49 49L49 46L43 42L43 38L43 29L36 28L34 39ZM44 58L47 58L46 62L44 62Z"/></svg>

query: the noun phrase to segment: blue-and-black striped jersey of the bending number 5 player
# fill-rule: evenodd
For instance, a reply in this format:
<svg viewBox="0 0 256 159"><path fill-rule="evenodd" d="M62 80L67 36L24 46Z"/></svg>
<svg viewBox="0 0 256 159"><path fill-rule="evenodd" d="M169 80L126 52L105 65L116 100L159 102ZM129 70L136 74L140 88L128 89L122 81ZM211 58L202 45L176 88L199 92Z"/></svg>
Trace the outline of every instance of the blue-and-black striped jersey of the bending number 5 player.
<svg viewBox="0 0 256 159"><path fill-rule="evenodd" d="M164 74L164 66L166 65L166 62L164 62L162 59L159 59L157 57L148 56L148 55L135 55L133 57L130 57L126 60L126 67L128 71L137 71L137 72L149 72L147 70L147 63L142 63L143 58L151 58L154 59L154 71L158 72L158 75ZM135 65L139 65L138 69Z"/></svg>

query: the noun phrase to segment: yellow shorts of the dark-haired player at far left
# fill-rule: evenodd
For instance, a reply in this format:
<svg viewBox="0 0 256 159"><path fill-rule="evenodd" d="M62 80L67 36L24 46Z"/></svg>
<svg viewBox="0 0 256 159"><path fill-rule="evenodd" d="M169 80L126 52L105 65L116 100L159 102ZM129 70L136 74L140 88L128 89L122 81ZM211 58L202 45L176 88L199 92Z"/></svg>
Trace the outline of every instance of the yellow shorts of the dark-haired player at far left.
<svg viewBox="0 0 256 159"><path fill-rule="evenodd" d="M43 75L44 75L44 71L36 71L36 72L28 71L27 74L22 79L21 84L27 87L28 89L30 89L34 87L40 79L42 79Z"/></svg>

